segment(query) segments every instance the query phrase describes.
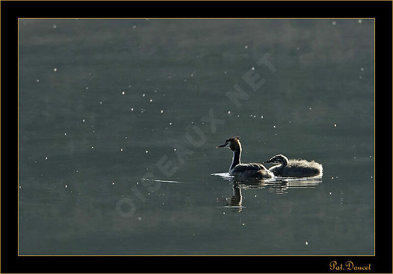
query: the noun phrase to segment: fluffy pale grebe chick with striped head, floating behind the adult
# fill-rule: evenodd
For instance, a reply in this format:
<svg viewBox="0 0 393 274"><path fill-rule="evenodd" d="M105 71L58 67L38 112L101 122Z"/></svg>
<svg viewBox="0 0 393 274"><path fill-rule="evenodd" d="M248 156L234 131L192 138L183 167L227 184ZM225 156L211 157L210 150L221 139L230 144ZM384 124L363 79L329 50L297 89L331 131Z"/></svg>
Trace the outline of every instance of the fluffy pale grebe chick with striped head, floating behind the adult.
<svg viewBox="0 0 393 274"><path fill-rule="evenodd" d="M282 177L311 177L322 175L322 164L315 161L291 159L278 154L263 163L277 164L269 168L276 176Z"/></svg>

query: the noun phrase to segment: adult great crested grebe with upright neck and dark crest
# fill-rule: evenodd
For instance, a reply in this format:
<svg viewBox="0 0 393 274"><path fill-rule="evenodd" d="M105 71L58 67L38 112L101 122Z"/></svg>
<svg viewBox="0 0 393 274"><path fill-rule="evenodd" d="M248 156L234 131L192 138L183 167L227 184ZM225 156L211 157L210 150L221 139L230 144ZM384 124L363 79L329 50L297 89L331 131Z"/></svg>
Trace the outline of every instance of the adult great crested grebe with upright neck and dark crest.
<svg viewBox="0 0 393 274"><path fill-rule="evenodd" d="M231 137L225 140L225 143L217 146L226 147L232 150L233 158L232 164L229 166L229 174L236 177L242 178L256 178L256 179L268 179L273 178L274 175L270 172L263 164L259 163L240 163L240 155L242 154L242 145L239 141L240 137Z"/></svg>

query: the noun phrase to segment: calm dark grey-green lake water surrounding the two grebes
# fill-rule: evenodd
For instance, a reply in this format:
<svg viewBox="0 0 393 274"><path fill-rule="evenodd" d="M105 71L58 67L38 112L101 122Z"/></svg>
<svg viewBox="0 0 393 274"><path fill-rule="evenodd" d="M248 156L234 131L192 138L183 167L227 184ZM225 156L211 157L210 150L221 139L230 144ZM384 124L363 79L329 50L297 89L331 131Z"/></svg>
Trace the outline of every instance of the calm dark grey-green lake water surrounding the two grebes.
<svg viewBox="0 0 393 274"><path fill-rule="evenodd" d="M374 21L19 20L18 187L20 255L372 255Z"/></svg>

